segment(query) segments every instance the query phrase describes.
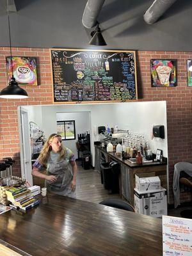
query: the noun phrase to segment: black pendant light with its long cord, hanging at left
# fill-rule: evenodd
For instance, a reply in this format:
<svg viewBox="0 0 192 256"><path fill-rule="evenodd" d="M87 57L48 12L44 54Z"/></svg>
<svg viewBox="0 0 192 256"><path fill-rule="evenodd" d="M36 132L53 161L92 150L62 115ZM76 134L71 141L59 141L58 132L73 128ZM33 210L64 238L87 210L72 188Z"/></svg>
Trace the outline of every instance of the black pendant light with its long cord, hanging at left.
<svg viewBox="0 0 192 256"><path fill-rule="evenodd" d="M28 98L28 93L20 88L18 83L15 81L15 77L13 76L13 60L12 60L12 40L10 33L10 16L9 16L9 3L7 2L7 15L8 15L8 26L9 26L9 37L10 37L10 54L11 54L11 66L12 66L12 78L8 86L1 90L0 98L4 99L25 99Z"/></svg>

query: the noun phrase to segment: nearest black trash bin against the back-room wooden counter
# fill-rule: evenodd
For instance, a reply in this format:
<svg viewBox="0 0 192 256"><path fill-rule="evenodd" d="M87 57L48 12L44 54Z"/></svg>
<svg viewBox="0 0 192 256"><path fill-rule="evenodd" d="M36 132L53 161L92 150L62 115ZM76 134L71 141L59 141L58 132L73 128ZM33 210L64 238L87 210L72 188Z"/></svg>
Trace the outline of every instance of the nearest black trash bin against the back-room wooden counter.
<svg viewBox="0 0 192 256"><path fill-rule="evenodd" d="M104 188L109 191L109 193L119 193L119 182L118 176L120 172L120 166L115 161L111 163L101 163L100 172L102 175L102 181Z"/></svg>

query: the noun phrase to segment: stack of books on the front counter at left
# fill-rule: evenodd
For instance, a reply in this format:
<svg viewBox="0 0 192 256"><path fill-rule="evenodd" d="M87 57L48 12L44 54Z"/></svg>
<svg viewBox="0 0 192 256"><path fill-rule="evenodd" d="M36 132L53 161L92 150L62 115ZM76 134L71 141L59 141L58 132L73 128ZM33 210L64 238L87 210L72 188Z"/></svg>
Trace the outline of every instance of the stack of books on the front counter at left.
<svg viewBox="0 0 192 256"><path fill-rule="evenodd" d="M6 196L12 202L10 206L21 211L26 211L39 204L38 200L31 195L31 191L26 186L9 188L6 190Z"/></svg>

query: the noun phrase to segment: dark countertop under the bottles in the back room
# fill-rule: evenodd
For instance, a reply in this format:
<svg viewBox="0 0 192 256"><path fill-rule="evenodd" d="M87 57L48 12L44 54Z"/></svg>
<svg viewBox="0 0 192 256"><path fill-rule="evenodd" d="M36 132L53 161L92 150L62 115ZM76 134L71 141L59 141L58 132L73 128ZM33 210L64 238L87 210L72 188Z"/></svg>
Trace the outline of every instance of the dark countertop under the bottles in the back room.
<svg viewBox="0 0 192 256"><path fill-rule="evenodd" d="M143 164L136 164L136 163L131 163L128 160L122 159L122 157L115 156L115 152L107 152L106 148L102 148L99 145L95 145L96 148L99 148L100 151L104 152L104 154L108 154L109 157L114 159L115 161L118 161L120 163L123 163L131 168L138 168L138 167L146 167L146 166L157 166L157 165L166 165L166 161L161 162L152 162L152 163L143 163ZM164 160L166 160L165 157L163 157Z"/></svg>

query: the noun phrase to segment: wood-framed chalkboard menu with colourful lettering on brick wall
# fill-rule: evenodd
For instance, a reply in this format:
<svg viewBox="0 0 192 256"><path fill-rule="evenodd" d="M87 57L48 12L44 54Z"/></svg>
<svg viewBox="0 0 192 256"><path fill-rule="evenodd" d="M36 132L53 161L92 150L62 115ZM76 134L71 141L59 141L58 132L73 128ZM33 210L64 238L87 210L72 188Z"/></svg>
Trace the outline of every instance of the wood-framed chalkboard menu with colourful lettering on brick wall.
<svg viewBox="0 0 192 256"><path fill-rule="evenodd" d="M135 51L51 49L53 102L137 99Z"/></svg>

